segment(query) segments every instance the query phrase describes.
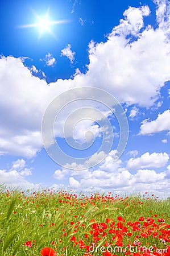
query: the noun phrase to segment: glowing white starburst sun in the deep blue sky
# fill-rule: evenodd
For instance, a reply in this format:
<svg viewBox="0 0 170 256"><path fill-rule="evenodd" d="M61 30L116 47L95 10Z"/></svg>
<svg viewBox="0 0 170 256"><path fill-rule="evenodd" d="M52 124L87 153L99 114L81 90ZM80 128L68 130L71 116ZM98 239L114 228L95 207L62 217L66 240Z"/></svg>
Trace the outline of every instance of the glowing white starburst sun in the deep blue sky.
<svg viewBox="0 0 170 256"><path fill-rule="evenodd" d="M32 10L32 13L36 17L37 22L32 23L32 24L22 25L22 26L19 26L19 28L29 28L29 27L39 28L39 37L38 37L39 40L42 37L42 34L44 32L48 32L49 34L51 34L53 36L53 38L56 39L56 35L53 34L51 27L55 24L69 22L69 20L50 20L49 19L49 8L43 17L36 14L34 10Z"/></svg>

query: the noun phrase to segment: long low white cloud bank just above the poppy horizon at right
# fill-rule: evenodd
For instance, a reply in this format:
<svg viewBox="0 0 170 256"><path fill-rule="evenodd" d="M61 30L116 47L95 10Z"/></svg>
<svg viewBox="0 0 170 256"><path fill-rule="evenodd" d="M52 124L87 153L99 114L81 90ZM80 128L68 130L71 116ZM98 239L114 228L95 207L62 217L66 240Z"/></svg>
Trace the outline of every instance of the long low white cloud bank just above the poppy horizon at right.
<svg viewBox="0 0 170 256"><path fill-rule="evenodd" d="M127 170L119 170L114 173L96 170L91 171L90 177L80 180L74 177L69 178L69 188L80 189L81 191L102 191L110 189L113 193L133 193L145 191L151 192L167 191L169 180L165 179L166 172L156 173L155 170L138 170L136 174L131 174Z"/></svg>

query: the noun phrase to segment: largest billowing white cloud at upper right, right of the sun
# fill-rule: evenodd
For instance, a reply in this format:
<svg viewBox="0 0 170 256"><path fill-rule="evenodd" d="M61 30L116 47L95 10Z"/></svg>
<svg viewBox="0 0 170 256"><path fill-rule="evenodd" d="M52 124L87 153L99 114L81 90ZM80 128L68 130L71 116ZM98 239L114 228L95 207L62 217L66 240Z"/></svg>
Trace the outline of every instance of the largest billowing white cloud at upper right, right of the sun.
<svg viewBox="0 0 170 256"><path fill-rule="evenodd" d="M141 19L141 10L128 10L134 12ZM170 44L165 42L164 31L152 27L129 43L125 34L138 31L135 24L136 27L131 23L125 28L115 27L105 43L90 43L86 78L91 85L109 90L121 102L150 106L159 97L164 82L170 79Z"/></svg>

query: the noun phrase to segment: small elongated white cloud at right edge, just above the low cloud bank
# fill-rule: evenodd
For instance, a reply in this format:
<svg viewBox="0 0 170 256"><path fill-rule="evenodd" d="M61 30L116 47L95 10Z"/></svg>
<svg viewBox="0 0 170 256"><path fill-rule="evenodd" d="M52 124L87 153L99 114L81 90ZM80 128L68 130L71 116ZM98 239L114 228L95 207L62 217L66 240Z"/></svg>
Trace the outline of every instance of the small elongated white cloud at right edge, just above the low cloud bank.
<svg viewBox="0 0 170 256"><path fill-rule="evenodd" d="M160 168L168 163L169 156L167 153L146 152L139 158L130 158L127 162L127 168L130 170L138 170L142 168Z"/></svg>

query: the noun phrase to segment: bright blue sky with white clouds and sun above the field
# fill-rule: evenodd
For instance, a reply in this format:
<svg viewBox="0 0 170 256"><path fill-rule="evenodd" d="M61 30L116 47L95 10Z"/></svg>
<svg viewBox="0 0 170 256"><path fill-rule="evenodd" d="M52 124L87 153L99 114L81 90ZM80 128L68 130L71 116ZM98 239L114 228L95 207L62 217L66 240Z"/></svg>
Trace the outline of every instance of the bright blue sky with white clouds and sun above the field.
<svg viewBox="0 0 170 256"><path fill-rule="evenodd" d="M0 3L0 183L170 196L170 2Z"/></svg>

